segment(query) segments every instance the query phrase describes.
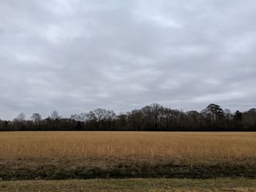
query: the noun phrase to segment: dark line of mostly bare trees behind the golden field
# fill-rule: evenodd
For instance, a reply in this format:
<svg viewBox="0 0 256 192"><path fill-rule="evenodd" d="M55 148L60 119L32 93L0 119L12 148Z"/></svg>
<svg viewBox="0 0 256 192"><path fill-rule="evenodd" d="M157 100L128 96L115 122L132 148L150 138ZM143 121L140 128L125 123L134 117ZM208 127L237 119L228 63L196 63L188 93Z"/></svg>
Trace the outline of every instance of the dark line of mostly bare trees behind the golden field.
<svg viewBox="0 0 256 192"><path fill-rule="evenodd" d="M61 118L57 111L45 119L34 113L30 120L21 112L13 120L0 120L0 131L256 131L256 109L231 112L209 104L200 112L183 112L150 104L118 115L97 108L70 118Z"/></svg>

